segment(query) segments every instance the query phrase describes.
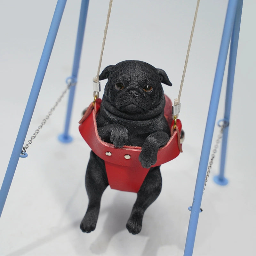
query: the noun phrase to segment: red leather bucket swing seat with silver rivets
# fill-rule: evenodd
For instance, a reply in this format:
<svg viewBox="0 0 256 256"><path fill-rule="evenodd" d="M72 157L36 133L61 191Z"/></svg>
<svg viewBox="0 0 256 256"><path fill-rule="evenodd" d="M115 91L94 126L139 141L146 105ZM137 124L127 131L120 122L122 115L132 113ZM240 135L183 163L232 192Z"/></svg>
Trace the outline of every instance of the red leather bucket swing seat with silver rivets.
<svg viewBox="0 0 256 256"><path fill-rule="evenodd" d="M173 127L172 101L165 96L164 116L170 126ZM100 110L101 99L88 107L84 117L80 120L79 131L92 151L105 161L108 183L111 188L137 193L142 185L149 169L143 168L139 161L141 147L124 146L116 148L113 144L100 139L96 124L96 115ZM180 144L181 122L177 119L176 130L167 144L159 148L157 161L154 166L159 166L171 161L182 152Z"/></svg>

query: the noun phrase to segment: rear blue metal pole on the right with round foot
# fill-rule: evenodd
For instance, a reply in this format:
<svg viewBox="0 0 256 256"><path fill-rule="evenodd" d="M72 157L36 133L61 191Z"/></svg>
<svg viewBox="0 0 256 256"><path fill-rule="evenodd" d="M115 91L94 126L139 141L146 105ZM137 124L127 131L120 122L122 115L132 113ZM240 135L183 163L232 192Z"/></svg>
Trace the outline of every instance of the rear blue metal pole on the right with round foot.
<svg viewBox="0 0 256 256"><path fill-rule="evenodd" d="M226 152L227 152L227 142L228 142L228 126L230 119L230 110L231 110L231 101L232 101L232 92L236 68L236 54L238 47L238 38L240 31L241 15L243 8L243 0L238 1L236 18L233 28L233 33L230 43L230 53L229 53L229 63L228 63L228 80L227 80L227 91L226 91L226 102L225 102L225 114L224 122L227 123L223 128L222 136L222 147L221 147L221 159L220 159L220 174L214 177L214 181L219 185L227 185L228 180L224 177L225 162L226 162Z"/></svg>

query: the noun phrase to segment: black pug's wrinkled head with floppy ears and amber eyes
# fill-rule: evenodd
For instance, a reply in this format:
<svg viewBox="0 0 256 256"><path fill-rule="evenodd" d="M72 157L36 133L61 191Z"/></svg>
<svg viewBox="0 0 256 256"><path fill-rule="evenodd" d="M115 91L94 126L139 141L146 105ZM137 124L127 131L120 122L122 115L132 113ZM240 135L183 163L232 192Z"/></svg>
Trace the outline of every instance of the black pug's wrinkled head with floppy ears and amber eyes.
<svg viewBox="0 0 256 256"><path fill-rule="evenodd" d="M164 70L139 60L125 60L104 68L99 80L106 78L103 99L132 115L159 108L164 101L161 83L172 86Z"/></svg>

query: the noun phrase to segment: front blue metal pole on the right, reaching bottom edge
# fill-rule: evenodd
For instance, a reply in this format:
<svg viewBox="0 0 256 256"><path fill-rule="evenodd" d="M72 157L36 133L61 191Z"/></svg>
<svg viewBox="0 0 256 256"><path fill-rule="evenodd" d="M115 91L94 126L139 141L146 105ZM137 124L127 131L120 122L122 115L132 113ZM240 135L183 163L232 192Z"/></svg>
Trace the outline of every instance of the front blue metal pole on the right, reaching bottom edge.
<svg viewBox="0 0 256 256"><path fill-rule="evenodd" d="M229 0L228 2L228 10L226 14L221 44L220 44L220 52L217 62L216 73L214 77L214 83L212 88L212 96L210 101L210 107L205 127L204 133L204 141L202 146L202 152L198 167L197 179L196 179L196 187L194 192L193 204L191 207L191 214L188 225L188 234L186 239L186 245L184 250L184 255L192 255L195 237L196 237L196 229L197 223L199 219L199 213L201 212L200 206L202 202L203 190L204 190L204 181L206 176L207 164L211 150L212 144L212 135L214 130L214 124L217 116L217 110L219 105L220 91L221 85L223 81L225 65L228 55L229 42L231 37L232 28L234 25L235 15L236 15L236 7L238 0Z"/></svg>

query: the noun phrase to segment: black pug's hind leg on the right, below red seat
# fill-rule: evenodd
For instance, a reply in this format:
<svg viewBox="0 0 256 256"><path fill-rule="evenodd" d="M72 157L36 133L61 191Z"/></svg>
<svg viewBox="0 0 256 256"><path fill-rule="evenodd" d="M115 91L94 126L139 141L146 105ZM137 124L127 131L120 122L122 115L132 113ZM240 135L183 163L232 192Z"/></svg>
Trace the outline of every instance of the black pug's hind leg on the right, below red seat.
<svg viewBox="0 0 256 256"><path fill-rule="evenodd" d="M161 192L162 177L159 167L156 166L149 170L137 193L137 200L133 205L132 213L126 224L126 228L133 235L140 233L144 212Z"/></svg>

